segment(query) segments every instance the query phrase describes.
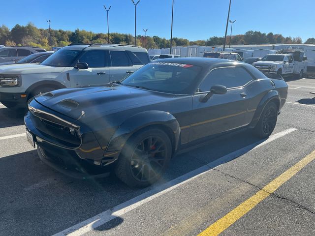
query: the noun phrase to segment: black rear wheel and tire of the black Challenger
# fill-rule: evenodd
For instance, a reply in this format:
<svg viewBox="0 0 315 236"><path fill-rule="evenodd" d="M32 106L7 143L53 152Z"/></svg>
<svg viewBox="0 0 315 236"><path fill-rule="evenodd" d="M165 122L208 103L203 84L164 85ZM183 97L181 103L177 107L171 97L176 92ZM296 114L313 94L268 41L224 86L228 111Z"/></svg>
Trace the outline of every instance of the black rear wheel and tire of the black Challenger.
<svg viewBox="0 0 315 236"><path fill-rule="evenodd" d="M267 138L274 131L278 118L278 107L274 102L269 102L262 111L260 118L253 129L254 135Z"/></svg>

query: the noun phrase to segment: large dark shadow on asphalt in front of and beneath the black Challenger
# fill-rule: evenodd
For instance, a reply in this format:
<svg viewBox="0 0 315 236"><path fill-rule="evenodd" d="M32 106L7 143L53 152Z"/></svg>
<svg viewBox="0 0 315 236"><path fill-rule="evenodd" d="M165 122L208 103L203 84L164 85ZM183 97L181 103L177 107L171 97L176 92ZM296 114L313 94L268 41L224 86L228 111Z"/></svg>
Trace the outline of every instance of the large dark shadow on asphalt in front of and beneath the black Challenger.
<svg viewBox="0 0 315 236"><path fill-rule="evenodd" d="M130 188L114 175L87 180L64 176L43 164L36 150L2 157L0 218L6 219L6 224L0 225L0 232L19 235L18 226L21 235L56 234L108 209L119 210L120 206L137 203L139 198L136 197L141 194L148 197L158 193L171 186L170 180L263 141L253 137L249 131L241 131L186 148L173 158L170 168L158 183L143 189ZM34 222L37 222L36 227L30 227ZM122 218L111 218L95 230L106 231L122 222Z"/></svg>

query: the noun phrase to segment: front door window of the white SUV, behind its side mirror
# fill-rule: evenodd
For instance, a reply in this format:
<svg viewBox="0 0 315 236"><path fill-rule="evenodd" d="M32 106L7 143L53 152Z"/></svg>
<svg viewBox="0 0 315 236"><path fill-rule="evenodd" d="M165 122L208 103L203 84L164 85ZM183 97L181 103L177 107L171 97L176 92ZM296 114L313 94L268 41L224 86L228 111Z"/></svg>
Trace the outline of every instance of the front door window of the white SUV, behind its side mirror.
<svg viewBox="0 0 315 236"><path fill-rule="evenodd" d="M81 56L79 62L86 62L92 68L107 66L104 50L89 50Z"/></svg>

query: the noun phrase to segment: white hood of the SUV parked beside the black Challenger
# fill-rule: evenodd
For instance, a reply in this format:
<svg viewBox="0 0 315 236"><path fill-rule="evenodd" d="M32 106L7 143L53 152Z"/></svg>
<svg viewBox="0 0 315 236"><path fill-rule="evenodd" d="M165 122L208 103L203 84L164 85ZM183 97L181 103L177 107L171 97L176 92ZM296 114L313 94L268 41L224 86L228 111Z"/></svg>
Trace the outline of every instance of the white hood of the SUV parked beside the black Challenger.
<svg viewBox="0 0 315 236"><path fill-rule="evenodd" d="M11 64L0 66L1 74L38 74L38 73L58 73L65 67L52 67L39 64Z"/></svg>

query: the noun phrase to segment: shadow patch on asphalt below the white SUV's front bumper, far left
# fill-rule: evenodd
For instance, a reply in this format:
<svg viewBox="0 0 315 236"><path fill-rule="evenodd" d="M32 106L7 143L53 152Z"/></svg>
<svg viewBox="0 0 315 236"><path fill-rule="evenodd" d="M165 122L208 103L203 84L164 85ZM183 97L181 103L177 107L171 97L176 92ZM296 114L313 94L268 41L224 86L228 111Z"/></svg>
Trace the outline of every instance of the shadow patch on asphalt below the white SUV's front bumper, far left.
<svg viewBox="0 0 315 236"><path fill-rule="evenodd" d="M0 108L0 128L24 124L24 113L15 112L9 108Z"/></svg>

